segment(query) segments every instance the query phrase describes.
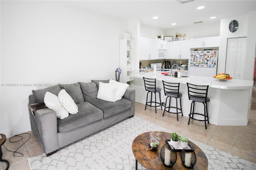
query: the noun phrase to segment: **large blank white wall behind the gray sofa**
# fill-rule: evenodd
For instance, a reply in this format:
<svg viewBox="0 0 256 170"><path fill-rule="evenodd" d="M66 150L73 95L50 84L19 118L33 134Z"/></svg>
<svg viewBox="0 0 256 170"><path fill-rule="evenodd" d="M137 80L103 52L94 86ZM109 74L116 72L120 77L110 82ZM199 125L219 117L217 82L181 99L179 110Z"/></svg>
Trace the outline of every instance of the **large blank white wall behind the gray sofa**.
<svg viewBox="0 0 256 170"><path fill-rule="evenodd" d="M30 130L28 95L46 86L25 83L114 79L124 28L126 21L60 1L1 1L1 133Z"/></svg>

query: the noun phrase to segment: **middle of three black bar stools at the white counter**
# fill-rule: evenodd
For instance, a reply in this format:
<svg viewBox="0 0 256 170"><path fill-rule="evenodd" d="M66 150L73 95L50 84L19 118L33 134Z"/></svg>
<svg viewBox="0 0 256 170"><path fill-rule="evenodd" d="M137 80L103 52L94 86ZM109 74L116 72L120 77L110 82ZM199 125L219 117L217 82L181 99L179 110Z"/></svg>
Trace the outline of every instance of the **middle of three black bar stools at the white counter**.
<svg viewBox="0 0 256 170"><path fill-rule="evenodd" d="M182 113L182 107L181 107L181 97L182 97L182 93L180 93L180 83L170 83L170 82L166 82L163 81L163 85L164 85L164 95L166 95L166 100L165 100L165 106L164 106L164 112L168 112L168 113L174 113L177 115L177 121L179 121L178 118L178 114L181 113L181 115L183 116ZM172 97L174 97L176 99L176 107L171 107L171 99ZM169 98L169 106L167 106L167 99ZM178 108L178 99L180 99L180 108ZM171 112L170 108L174 108L176 109L176 112ZM179 111L178 111L179 110ZM163 113L164 116L164 113Z"/></svg>

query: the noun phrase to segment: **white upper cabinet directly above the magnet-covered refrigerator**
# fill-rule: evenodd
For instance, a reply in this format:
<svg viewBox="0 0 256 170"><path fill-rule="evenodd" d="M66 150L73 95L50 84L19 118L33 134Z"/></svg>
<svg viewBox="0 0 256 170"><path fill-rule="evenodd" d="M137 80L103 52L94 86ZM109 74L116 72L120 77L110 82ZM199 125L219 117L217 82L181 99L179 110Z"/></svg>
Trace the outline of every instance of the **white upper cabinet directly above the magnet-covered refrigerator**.
<svg viewBox="0 0 256 170"><path fill-rule="evenodd" d="M218 47L220 37L194 38L190 40L190 48Z"/></svg>

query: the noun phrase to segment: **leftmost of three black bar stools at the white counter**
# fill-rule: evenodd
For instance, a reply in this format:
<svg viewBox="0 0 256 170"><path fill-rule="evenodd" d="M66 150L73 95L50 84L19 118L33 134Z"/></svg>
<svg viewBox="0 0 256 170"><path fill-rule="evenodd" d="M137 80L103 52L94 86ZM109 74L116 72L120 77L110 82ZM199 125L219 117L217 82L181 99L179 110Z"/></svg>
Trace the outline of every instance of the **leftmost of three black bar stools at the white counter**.
<svg viewBox="0 0 256 170"><path fill-rule="evenodd" d="M151 100L149 102L148 102L148 93L147 93L145 110L146 110L147 105L150 107L155 107L155 109L156 109L156 107L161 106L161 110L163 110L162 105L161 105L161 96L160 96L161 89L156 87L156 79L149 79L149 78L143 77L143 80L144 80L145 90L148 91L148 93L151 93ZM155 94L155 101L152 101L152 93ZM159 93L160 103L156 102L156 93ZM150 104L148 104L148 103L150 103ZM155 103L155 106L152 106L152 103ZM158 104L158 105L156 105L156 104Z"/></svg>

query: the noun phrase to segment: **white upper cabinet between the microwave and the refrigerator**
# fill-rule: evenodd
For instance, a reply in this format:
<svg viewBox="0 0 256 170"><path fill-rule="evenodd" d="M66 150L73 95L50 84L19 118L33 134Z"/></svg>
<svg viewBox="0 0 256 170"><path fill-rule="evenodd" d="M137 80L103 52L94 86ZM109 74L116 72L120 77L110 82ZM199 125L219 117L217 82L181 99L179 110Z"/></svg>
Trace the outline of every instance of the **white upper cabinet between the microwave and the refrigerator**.
<svg viewBox="0 0 256 170"><path fill-rule="evenodd" d="M190 52L190 41L189 40L170 42L170 50L169 50L168 56L166 58L168 58L168 59L188 59L189 52Z"/></svg>

